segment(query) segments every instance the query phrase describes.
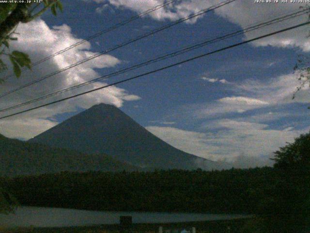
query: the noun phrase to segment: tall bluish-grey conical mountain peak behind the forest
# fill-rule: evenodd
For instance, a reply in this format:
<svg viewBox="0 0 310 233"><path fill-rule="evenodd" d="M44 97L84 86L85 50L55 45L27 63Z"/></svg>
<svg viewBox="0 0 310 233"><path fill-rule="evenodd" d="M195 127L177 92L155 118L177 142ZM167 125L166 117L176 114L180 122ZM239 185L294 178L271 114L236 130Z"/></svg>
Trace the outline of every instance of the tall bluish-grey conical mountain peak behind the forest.
<svg viewBox="0 0 310 233"><path fill-rule="evenodd" d="M159 139L120 109L97 104L29 140L84 153L105 153L147 168L221 169L217 162L178 150Z"/></svg>

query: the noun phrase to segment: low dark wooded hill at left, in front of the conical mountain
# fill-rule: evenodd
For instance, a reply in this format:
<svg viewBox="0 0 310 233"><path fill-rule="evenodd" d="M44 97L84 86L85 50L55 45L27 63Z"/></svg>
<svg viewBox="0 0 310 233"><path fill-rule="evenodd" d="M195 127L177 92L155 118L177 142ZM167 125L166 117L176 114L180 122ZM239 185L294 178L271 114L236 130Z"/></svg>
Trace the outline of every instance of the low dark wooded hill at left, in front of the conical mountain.
<svg viewBox="0 0 310 233"><path fill-rule="evenodd" d="M60 171L132 171L128 165L104 154L51 148L10 139L0 134L0 176L33 175Z"/></svg>

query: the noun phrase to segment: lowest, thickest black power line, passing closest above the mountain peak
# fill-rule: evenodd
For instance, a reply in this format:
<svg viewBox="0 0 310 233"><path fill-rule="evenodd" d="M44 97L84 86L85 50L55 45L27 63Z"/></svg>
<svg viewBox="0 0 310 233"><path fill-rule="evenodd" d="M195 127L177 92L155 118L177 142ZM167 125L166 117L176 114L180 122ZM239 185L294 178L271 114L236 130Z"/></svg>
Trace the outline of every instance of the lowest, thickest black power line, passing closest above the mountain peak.
<svg viewBox="0 0 310 233"><path fill-rule="evenodd" d="M140 74L140 75L128 78L128 79L124 79L124 80L121 80L121 81L118 81L118 82L115 82L115 83L111 83L111 84L108 84L108 85L105 85L105 86L101 86L101 87L98 87L98 88L95 88L95 89L92 89L92 90L89 90L89 91L86 91L86 92L83 92L83 93L79 93L79 94L76 94L76 95L73 95L73 96L70 96L70 97L66 97L66 98L63 98L61 100L55 100L55 101L52 101L52 102L49 102L49 103L46 103L46 104L42 104L42 105L39 105L37 107L33 107L33 108L30 108L30 109L27 109L27 110L23 110L23 111L14 113L14 114L10 114L10 115L7 115L7 116L2 116L2 117L0 117L0 119L4 119L4 118L10 117L10 116L16 116L18 114L26 113L26 112L32 111L34 109L38 109L38 108L42 108L42 107L45 107L45 106L48 106L48 105L51 105L51 104L54 104L54 103L62 102L64 100L73 99L75 97L82 96L82 95L85 95L85 94L88 94L88 93L91 93L91 92L94 92L94 91L97 91L97 90L100 90L100 89L104 89L104 88L107 88L109 86L113 86L113 85L116 85L116 84L120 84L120 83L124 83L124 82L130 81L130 80L134 80L134 79L137 79L137 78L140 78L140 77L152 74L152 73L156 73L158 71L165 70L165 69L168 69L168 68L171 68L171 67L175 67L175 66L181 65L183 63L190 62L190 61L196 60L198 58L202 58L202 57L205 57L205 56L208 56L208 55L220 52L220 51L232 49L234 47L237 47L237 46L240 46L240 45L244 45L244 44L247 44L247 43L255 41L255 40L259 40L259 39L262 39L262 38L265 38L265 37L268 37L268 36L271 36L271 35L275 35L275 34L278 34L278 33L286 32L286 31L289 31L289 30L292 30L292 29L295 29L295 28L299 28L299 27L305 26L307 24L310 24L310 21L305 22L305 23L301 23L301 24L297 24L297 25L294 25L292 27L285 28L285 29L282 29L282 30L279 30L279 31L276 31L276 32L273 32L273 33L264 34L262 36L258 36L258 37L255 37L253 39L249 39L249 40L246 40L246 41L243 41L243 42L240 42L240 43L236 43L236 44L224 47L224 48L219 49L219 50L214 50L212 52L208 52L208 53L204 53L202 55L191 57L191 58L183 60L181 62L174 63L174 64L172 64L170 66L161 67L161 68L158 68L158 69L155 69L155 70L152 70L152 71L149 71L149 72L146 72L146 73L143 73L143 74Z"/></svg>

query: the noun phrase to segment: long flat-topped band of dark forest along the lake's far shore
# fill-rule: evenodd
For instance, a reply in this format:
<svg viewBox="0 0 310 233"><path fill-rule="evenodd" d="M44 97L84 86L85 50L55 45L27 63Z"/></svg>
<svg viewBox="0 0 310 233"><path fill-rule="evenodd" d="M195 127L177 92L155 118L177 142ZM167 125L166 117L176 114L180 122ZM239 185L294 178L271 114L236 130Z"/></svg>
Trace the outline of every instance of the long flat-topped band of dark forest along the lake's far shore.
<svg viewBox="0 0 310 233"><path fill-rule="evenodd" d="M61 172L6 180L21 205L114 211L256 213L271 167L202 171Z"/></svg>

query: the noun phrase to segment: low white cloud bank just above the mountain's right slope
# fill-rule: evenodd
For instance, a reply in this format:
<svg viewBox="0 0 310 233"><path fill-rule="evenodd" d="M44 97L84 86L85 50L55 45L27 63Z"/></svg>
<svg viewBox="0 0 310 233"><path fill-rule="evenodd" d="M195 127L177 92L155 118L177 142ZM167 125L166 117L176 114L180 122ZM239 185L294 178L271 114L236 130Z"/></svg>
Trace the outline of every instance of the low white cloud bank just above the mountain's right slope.
<svg viewBox="0 0 310 233"><path fill-rule="evenodd" d="M270 166L269 158L286 142L310 130L273 130L266 124L230 119L210 121L206 133L172 127L146 127L172 146L203 158L232 163L234 167ZM212 133L210 131L212 129Z"/></svg>

